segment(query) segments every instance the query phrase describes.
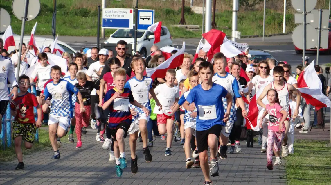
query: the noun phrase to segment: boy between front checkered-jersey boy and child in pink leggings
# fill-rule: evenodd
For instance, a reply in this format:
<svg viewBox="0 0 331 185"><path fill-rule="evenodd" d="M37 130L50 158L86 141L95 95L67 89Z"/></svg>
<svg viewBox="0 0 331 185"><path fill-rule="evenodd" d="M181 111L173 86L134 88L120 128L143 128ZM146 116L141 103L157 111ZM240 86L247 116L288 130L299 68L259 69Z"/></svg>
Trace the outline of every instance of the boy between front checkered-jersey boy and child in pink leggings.
<svg viewBox="0 0 331 185"><path fill-rule="evenodd" d="M71 62L69 64L69 71L68 71L70 75L67 76L67 77L64 77L63 79L64 80L67 80L72 85L77 84L78 83L78 81L76 79L77 71L78 71L77 64L74 63L74 62ZM76 99L77 99L76 94L72 94L72 96L71 96L71 102L72 102L73 109L75 107ZM73 143L74 142L74 140L73 140L73 132L75 130L75 126L76 126L76 118L75 118L75 111L73 111L73 117L70 119L70 131L69 131L69 135L68 135L68 141L70 143ZM61 142L61 141L58 141L58 143L59 142Z"/></svg>

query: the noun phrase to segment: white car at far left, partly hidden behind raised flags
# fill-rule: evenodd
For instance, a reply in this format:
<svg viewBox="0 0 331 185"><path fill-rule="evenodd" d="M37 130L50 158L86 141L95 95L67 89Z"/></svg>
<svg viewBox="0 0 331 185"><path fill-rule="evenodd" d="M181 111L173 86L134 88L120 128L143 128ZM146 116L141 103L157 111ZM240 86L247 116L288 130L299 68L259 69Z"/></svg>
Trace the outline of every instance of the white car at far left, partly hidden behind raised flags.
<svg viewBox="0 0 331 185"><path fill-rule="evenodd" d="M2 35L1 35L2 37ZM27 46L30 42L30 37L31 35L24 35L23 36L23 43L25 43L25 46ZM50 46L51 42L53 42L53 38L47 38L47 37L40 37L40 36L34 36L34 39L36 40L36 43L39 47L41 47L43 44L45 46ZM21 41L21 36L20 35L14 35L14 40L15 40L15 45L16 48L19 49L20 41ZM72 47L70 47L68 44L61 42L60 40L57 41L57 43L68 53L76 53L77 51L74 50ZM14 51L15 47L14 46L9 46L8 47L8 53L11 51Z"/></svg>

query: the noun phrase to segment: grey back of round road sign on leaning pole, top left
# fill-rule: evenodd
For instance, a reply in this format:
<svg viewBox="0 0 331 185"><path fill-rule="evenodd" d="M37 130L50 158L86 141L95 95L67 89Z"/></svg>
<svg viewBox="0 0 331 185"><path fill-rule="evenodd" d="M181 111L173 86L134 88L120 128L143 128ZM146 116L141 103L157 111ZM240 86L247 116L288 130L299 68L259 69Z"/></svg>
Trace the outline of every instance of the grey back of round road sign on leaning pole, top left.
<svg viewBox="0 0 331 185"><path fill-rule="evenodd" d="M13 0L12 3L12 11L14 16L22 20L23 12L24 12L24 1L25 0ZM40 2L39 0L29 0L29 4L27 5L27 14L26 14L26 20L31 21L35 17L37 17L39 11L40 11Z"/></svg>

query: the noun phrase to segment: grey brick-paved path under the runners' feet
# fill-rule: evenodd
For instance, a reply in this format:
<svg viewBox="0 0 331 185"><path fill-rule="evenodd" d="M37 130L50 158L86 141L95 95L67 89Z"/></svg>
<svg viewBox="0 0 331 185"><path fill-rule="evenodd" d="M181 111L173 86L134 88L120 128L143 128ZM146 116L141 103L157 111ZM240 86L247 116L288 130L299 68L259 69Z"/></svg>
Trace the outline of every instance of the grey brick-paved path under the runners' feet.
<svg viewBox="0 0 331 185"><path fill-rule="evenodd" d="M17 160L1 162L1 185L200 185L203 184L201 168L185 168L185 154L179 142L171 147L173 156L165 156L166 141L159 137L151 147L153 161L146 163L142 153L142 143L138 143L138 173L130 171L130 150L128 138L125 150L128 167L122 177L115 174L115 162L108 161L108 151L102 150L102 143L95 141L96 130L88 129L82 136L83 146L76 149L76 143L64 142L60 148L61 158L52 160L52 150L24 155L25 169L14 170ZM65 141L66 138L65 138ZM241 142L241 153L228 154L219 161L219 176L212 177L214 185L279 185L285 184L284 166L274 166L267 170L266 154L260 153L260 146L246 148Z"/></svg>

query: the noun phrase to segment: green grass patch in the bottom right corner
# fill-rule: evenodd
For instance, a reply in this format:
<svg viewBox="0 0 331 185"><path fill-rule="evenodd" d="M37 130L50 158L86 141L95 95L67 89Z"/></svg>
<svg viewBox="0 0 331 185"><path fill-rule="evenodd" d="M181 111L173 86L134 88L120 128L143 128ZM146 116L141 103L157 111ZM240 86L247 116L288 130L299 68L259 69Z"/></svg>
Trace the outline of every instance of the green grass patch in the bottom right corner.
<svg viewBox="0 0 331 185"><path fill-rule="evenodd" d="M286 177L289 185L331 184L331 147L328 141L299 140L294 154L286 157Z"/></svg>

